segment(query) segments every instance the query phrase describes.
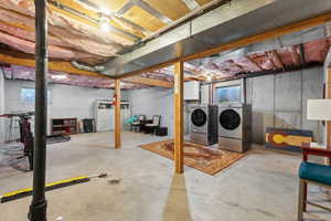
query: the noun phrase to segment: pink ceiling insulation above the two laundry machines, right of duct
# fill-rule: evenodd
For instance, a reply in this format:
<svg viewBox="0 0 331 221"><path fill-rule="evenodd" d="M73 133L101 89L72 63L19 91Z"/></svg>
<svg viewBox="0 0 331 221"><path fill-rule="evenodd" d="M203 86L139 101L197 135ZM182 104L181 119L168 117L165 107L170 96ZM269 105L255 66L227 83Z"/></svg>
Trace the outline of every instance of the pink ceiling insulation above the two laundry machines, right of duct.
<svg viewBox="0 0 331 221"><path fill-rule="evenodd" d="M184 70L200 80L206 80L207 75L211 75L213 80L231 80L236 78L238 74L245 76L245 74L258 74L267 71L281 73L293 67L299 70L310 65L322 65L330 45L331 38L323 38L265 52L239 54L226 60L224 60L224 56L210 56L190 63L185 62ZM148 76L154 73L172 74L172 69L164 67L145 75ZM189 76L190 74L185 75L185 77ZM163 77L163 80L169 81L169 77Z"/></svg>

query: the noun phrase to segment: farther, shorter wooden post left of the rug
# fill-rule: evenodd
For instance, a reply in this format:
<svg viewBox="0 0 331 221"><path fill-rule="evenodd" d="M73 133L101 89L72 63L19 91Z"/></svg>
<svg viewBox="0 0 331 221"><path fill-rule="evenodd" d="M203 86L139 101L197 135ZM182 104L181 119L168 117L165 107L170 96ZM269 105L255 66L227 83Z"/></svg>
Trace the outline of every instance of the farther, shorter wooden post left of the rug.
<svg viewBox="0 0 331 221"><path fill-rule="evenodd" d="M115 149L121 147L120 141L120 80L115 80Z"/></svg>

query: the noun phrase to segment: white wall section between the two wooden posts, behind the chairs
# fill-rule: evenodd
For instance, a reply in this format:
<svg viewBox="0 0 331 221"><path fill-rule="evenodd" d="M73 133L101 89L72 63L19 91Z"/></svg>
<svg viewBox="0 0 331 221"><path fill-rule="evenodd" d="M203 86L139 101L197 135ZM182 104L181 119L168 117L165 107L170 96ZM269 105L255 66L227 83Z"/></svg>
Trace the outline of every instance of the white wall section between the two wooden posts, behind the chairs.
<svg viewBox="0 0 331 221"><path fill-rule="evenodd" d="M131 103L131 114L143 114L148 119L152 115L161 115L161 126L168 127L168 134L173 135L173 90L151 87L127 91Z"/></svg>

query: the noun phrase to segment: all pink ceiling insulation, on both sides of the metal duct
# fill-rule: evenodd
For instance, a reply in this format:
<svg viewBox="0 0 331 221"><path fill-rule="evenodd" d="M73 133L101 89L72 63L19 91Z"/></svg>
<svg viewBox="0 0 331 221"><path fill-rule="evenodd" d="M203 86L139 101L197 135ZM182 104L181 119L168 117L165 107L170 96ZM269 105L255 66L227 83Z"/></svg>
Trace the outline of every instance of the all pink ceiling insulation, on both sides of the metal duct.
<svg viewBox="0 0 331 221"><path fill-rule="evenodd" d="M194 12L196 6L207 6L211 2L211 0L172 0L164 4L157 0L49 0L49 56L96 65L109 57L118 56L124 50L136 49L132 46L140 40L185 18ZM109 19L111 29L108 32L103 32L100 29L102 18ZM0 0L0 43L14 51L34 54L34 23L32 0ZM222 80L264 71L282 72L292 66L305 67L309 64L322 63L329 48L330 39L324 38L301 45L280 46L254 53L241 52L231 59L217 54L199 61L185 62L184 74L186 80L205 80L210 75ZM120 56L113 61L121 59ZM152 57L158 62L161 59L160 56ZM107 69L114 69L117 72L124 67L124 63L108 62ZM20 73L17 71L14 76L24 78L24 75ZM50 73L56 75L56 73ZM84 81L79 82L76 80L78 77L81 76L67 74L65 82L50 81L102 88L110 85L107 82L110 80L97 81L97 77L82 76ZM163 67L143 73L141 77L149 78L150 82L151 80L173 82L173 69L172 66ZM33 80L33 76L29 75L28 80ZM100 83L102 81L105 83ZM129 81L130 78L127 82ZM139 81L136 80L136 83ZM126 85L127 88L145 87L140 84L127 83Z"/></svg>

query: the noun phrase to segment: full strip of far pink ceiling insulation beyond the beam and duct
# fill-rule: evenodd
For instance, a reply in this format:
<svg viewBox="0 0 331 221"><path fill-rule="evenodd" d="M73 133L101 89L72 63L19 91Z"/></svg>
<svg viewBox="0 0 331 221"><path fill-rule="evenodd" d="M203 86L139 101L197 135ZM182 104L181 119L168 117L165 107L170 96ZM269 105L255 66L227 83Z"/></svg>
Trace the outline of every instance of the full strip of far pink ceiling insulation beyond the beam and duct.
<svg viewBox="0 0 331 221"><path fill-rule="evenodd" d="M0 34L1 36L1 34ZM330 49L331 38L323 38L309 41L302 44L277 48L265 52L236 53L233 56L222 53L221 55L210 56L202 60L194 60L184 63L185 80L206 81L207 76L213 80L232 80L238 76L254 76L259 73L271 72L281 73L322 65ZM238 49L242 50L242 49ZM245 50L244 50L245 51ZM10 74L8 74L10 73ZM81 76L62 72L49 72L51 83L61 83L75 86L110 88L113 80L105 80L93 76ZM53 75L65 75L56 78ZM34 80L34 69L11 66L11 72L7 71L7 78ZM143 78L142 78L143 77ZM122 88L145 88L148 86L170 85L173 82L173 66L167 66L153 72L143 73L140 77L126 78ZM156 80L148 85L146 81ZM158 82L163 81L163 82ZM143 82L147 85L142 85Z"/></svg>

